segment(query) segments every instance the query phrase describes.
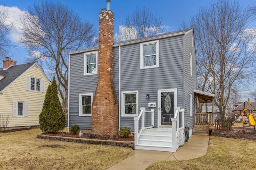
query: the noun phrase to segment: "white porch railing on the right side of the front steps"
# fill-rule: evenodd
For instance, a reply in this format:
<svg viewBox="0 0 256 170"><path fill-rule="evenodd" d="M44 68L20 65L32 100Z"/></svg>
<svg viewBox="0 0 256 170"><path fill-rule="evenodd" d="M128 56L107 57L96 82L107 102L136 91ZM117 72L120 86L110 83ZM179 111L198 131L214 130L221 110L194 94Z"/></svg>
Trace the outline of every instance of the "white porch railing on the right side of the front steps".
<svg viewBox="0 0 256 170"><path fill-rule="evenodd" d="M172 117L172 147L175 151L184 145L184 109L175 108L174 117Z"/></svg>

